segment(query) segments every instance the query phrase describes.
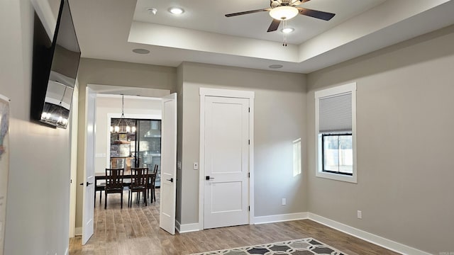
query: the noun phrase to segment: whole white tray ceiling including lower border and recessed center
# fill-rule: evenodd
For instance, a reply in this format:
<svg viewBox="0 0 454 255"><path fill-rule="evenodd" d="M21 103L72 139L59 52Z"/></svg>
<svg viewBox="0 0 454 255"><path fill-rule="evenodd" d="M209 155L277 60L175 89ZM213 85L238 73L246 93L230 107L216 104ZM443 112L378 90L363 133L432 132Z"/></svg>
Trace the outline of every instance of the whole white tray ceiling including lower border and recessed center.
<svg viewBox="0 0 454 255"><path fill-rule="evenodd" d="M171 6L185 12L174 16ZM170 67L282 64L278 71L308 73L454 23L454 0L311 0L300 7L336 16L293 18L287 26L295 31L283 47L281 27L266 32L267 12L224 16L269 6L268 0L70 0L82 57Z"/></svg>

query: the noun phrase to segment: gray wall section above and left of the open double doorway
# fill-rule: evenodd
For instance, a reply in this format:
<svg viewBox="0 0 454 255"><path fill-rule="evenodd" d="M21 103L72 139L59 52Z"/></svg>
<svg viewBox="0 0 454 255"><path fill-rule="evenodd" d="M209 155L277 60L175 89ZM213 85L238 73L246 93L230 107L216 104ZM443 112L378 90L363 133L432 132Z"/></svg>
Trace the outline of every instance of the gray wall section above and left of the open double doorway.
<svg viewBox="0 0 454 255"><path fill-rule="evenodd" d="M82 58L79 64L79 127L77 141L77 183L84 182L84 146L86 137L85 96L87 84L170 89L175 92L177 69L149 64L133 64ZM82 227L82 188L77 186L76 227Z"/></svg>

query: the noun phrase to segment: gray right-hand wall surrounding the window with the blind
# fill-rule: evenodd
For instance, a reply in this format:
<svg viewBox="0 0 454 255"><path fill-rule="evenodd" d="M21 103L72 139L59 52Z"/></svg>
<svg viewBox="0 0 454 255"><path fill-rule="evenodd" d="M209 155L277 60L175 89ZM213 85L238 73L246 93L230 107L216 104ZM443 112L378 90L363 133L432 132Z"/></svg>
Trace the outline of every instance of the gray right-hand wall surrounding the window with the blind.
<svg viewBox="0 0 454 255"><path fill-rule="evenodd" d="M433 254L454 251L453 45L450 26L309 74L310 212ZM314 91L351 81L358 184L315 176Z"/></svg>

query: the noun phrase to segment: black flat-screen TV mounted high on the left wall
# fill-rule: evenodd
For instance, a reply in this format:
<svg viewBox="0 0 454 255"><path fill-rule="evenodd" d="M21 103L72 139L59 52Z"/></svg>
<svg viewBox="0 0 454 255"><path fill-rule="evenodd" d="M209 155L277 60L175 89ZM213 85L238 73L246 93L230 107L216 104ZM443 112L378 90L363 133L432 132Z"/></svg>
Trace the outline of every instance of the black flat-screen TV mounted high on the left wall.
<svg viewBox="0 0 454 255"><path fill-rule="evenodd" d="M80 60L68 1L61 0L53 37L36 13L34 26L31 119L67 128Z"/></svg>

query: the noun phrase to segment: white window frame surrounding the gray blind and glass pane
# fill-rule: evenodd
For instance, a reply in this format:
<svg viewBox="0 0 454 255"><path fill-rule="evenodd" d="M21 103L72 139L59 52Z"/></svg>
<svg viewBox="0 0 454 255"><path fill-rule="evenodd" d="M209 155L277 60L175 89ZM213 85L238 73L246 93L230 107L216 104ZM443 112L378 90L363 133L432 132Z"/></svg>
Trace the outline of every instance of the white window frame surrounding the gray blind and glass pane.
<svg viewBox="0 0 454 255"><path fill-rule="evenodd" d="M319 129L319 106L320 99L328 98L331 96L338 96L339 94L351 94L352 96L352 149L353 149L353 173L351 175L323 171L323 133ZM336 132L333 132L335 135ZM345 132L340 132L345 133ZM356 161L356 83L345 84L341 86L335 86L320 91L315 91L315 152L316 152L316 177L324 179L332 179L337 181L346 181L350 183L358 183L357 178L357 161Z"/></svg>

